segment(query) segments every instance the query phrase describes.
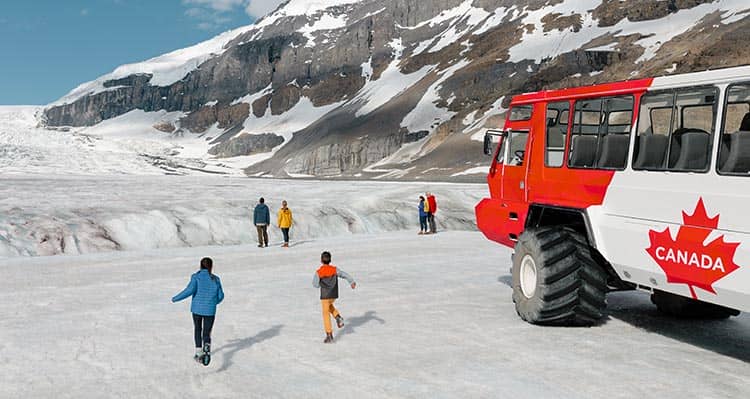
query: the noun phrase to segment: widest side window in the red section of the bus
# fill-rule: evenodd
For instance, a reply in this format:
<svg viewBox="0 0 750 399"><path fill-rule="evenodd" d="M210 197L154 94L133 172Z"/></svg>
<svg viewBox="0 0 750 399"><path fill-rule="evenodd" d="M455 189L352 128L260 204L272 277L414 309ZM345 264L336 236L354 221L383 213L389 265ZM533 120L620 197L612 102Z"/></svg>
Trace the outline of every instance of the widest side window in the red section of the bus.
<svg viewBox="0 0 750 399"><path fill-rule="evenodd" d="M577 101L568 166L624 169L632 120L632 96Z"/></svg>

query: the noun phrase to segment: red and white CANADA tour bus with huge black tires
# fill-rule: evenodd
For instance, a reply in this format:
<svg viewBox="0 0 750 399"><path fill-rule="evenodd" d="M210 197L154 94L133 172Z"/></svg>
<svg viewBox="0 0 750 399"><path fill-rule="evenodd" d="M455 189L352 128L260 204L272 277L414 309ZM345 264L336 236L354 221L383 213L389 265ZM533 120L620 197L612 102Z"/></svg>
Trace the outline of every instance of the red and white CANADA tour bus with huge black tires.
<svg viewBox="0 0 750 399"><path fill-rule="evenodd" d="M521 318L590 325L636 288L674 315L750 311L750 66L522 94L507 115L476 217L514 248Z"/></svg>

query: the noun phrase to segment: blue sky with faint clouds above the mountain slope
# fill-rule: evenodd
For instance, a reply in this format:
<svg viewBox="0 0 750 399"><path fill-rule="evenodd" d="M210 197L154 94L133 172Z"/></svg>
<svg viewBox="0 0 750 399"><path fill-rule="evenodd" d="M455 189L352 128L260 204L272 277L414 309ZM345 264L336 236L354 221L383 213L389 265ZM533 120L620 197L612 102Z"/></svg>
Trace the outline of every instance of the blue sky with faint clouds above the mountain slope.
<svg viewBox="0 0 750 399"><path fill-rule="evenodd" d="M283 0L2 0L0 105L42 105L117 66L249 25Z"/></svg>

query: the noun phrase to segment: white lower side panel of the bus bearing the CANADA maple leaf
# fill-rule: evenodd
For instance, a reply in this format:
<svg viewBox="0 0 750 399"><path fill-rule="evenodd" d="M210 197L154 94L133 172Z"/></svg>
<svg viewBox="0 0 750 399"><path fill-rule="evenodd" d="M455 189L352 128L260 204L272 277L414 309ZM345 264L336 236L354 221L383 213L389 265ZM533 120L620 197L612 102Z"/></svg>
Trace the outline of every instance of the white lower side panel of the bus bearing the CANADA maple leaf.
<svg viewBox="0 0 750 399"><path fill-rule="evenodd" d="M747 204L750 178L626 171L615 175L603 205L589 208L588 214L597 248L623 280L750 311ZM714 218L717 227L705 227ZM686 224L694 226L693 234L705 234L699 234L702 242L680 234ZM709 247L715 240L720 241ZM717 244L728 252L717 252ZM652 254L650 248L661 249ZM672 265L669 275L660 264ZM686 282L674 282L675 273Z"/></svg>

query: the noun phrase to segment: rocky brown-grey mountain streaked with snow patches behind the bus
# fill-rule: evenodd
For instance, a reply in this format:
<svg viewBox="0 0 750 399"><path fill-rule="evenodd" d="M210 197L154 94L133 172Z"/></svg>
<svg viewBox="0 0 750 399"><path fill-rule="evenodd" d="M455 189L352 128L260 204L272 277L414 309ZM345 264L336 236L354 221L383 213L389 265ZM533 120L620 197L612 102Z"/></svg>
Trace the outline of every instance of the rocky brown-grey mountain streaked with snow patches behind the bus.
<svg viewBox="0 0 750 399"><path fill-rule="evenodd" d="M289 0L50 104L252 176L477 180L517 93L750 64L746 0ZM108 133L102 133L108 134ZM187 144L185 144L187 143Z"/></svg>

